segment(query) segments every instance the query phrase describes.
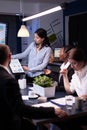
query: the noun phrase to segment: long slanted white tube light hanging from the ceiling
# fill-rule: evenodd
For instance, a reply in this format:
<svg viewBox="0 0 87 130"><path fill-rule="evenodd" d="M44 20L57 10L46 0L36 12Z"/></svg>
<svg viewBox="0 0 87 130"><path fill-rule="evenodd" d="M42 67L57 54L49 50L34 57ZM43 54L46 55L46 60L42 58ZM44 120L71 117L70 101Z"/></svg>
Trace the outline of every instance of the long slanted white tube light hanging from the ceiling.
<svg viewBox="0 0 87 130"><path fill-rule="evenodd" d="M61 10L61 9L62 9L61 6L57 6L57 7L54 7L54 8L52 8L52 9L43 11L43 12L41 12L41 13L38 13L38 14L35 14L35 15L32 15L32 16L23 18L22 21L28 21L28 20L31 20L31 19L34 19L34 18L38 18L38 17L44 16L44 15L47 15L47 14L50 14L50 13L59 11L59 10Z"/></svg>

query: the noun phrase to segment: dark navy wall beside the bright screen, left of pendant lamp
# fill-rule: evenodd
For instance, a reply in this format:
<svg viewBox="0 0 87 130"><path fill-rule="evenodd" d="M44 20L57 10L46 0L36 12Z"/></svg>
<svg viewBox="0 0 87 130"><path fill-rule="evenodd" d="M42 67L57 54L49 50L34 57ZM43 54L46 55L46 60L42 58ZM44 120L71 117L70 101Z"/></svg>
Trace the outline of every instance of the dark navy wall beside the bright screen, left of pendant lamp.
<svg viewBox="0 0 87 130"><path fill-rule="evenodd" d="M17 31L19 28L19 18L12 15L0 15L0 22L6 23L7 26L7 43L12 53L17 53L21 51L21 42L20 38L17 38ZM19 47L17 47L19 44Z"/></svg>

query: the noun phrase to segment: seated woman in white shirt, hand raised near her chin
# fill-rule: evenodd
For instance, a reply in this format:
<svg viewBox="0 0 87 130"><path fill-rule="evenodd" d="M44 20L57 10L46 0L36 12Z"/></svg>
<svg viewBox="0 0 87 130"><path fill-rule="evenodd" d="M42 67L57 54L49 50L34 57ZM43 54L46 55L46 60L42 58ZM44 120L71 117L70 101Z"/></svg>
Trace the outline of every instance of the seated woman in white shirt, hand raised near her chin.
<svg viewBox="0 0 87 130"><path fill-rule="evenodd" d="M72 80L69 82L67 69L62 69L64 87L67 93L76 92L79 97L87 97L87 60L81 48L71 49L69 52L69 62L74 69Z"/></svg>

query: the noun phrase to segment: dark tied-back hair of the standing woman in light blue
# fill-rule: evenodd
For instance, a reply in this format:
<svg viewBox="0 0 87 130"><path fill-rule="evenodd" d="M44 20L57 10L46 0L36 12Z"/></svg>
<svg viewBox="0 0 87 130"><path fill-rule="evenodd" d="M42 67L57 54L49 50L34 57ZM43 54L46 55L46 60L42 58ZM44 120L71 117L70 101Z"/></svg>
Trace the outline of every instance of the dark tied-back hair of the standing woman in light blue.
<svg viewBox="0 0 87 130"><path fill-rule="evenodd" d="M43 45L42 46L50 46L49 39L47 37L47 31L43 28L39 28L35 31L37 35L41 38L44 38Z"/></svg>

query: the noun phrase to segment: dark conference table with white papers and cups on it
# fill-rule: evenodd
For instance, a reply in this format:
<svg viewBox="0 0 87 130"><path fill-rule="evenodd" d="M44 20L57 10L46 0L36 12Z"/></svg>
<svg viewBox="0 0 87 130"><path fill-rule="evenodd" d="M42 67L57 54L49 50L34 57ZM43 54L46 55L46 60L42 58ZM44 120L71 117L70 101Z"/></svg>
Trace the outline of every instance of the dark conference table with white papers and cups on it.
<svg viewBox="0 0 87 130"><path fill-rule="evenodd" d="M77 104L75 103L76 97L72 96L73 97L73 105L71 106L71 109L67 109L66 103L65 103L65 95L63 97L60 97L60 98L58 98L57 96L52 97L52 98L48 98L47 102L39 103L38 98L35 98L35 99L28 98L28 92L31 89L32 89L32 85L28 85L26 89L20 90L22 93L22 98L23 98L25 104L33 105L35 107L52 106L52 107L56 107L56 108L61 108L68 113L68 117L66 118L67 120L79 119L79 118L87 115L87 100L82 100L82 102L80 102L80 107L77 109L76 108ZM57 95L57 92L55 95ZM66 119L63 119L63 120L66 120ZM49 124L49 123L55 124L56 122L60 122L63 120L60 120L59 118L46 118L46 119L33 119L33 120L31 120L31 122L37 126L37 130L43 130L43 127L42 127L43 124Z"/></svg>

